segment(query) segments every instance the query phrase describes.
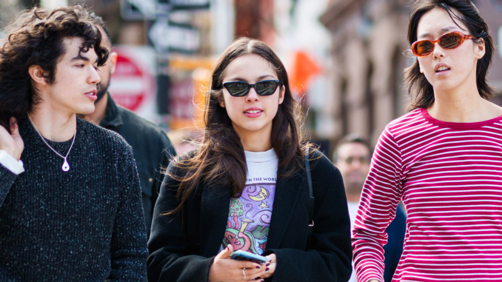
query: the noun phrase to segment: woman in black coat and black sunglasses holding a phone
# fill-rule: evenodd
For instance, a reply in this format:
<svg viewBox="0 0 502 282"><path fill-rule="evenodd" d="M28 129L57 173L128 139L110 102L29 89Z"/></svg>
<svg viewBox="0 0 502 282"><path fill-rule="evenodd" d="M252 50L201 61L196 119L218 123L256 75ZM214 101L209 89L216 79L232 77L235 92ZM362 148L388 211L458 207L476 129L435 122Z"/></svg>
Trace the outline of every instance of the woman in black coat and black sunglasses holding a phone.
<svg viewBox="0 0 502 282"><path fill-rule="evenodd" d="M299 116L268 46L240 38L225 50L206 95L202 140L166 171L148 244L150 281L348 280L343 182L304 141ZM234 260L233 251L266 262Z"/></svg>

